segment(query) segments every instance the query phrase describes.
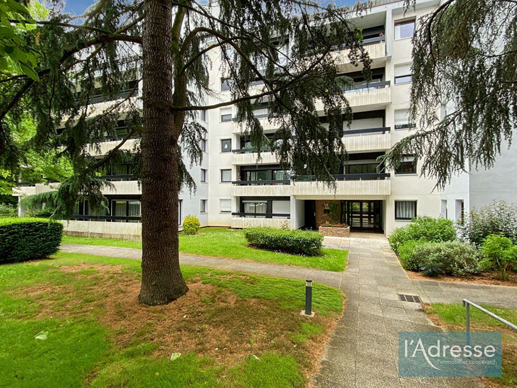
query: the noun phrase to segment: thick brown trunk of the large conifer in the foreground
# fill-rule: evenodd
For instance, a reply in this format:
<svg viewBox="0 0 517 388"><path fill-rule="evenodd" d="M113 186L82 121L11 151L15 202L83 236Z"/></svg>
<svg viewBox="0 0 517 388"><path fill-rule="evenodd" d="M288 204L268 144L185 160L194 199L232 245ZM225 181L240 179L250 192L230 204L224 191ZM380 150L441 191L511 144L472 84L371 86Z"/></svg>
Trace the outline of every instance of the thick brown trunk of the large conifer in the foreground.
<svg viewBox="0 0 517 388"><path fill-rule="evenodd" d="M144 9L142 287L138 300L146 305L161 305L188 291L178 256L180 156L171 111L172 5L170 0L145 0Z"/></svg>

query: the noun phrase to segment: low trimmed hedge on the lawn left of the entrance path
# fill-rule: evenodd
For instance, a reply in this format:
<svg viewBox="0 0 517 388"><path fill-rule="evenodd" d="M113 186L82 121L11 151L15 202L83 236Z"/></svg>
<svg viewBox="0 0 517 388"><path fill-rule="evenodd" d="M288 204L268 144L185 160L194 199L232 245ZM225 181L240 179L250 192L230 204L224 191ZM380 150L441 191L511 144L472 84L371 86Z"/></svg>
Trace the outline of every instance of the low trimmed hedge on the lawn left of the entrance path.
<svg viewBox="0 0 517 388"><path fill-rule="evenodd" d="M323 235L311 231L249 228L244 235L251 245L295 255L315 256L323 247Z"/></svg>

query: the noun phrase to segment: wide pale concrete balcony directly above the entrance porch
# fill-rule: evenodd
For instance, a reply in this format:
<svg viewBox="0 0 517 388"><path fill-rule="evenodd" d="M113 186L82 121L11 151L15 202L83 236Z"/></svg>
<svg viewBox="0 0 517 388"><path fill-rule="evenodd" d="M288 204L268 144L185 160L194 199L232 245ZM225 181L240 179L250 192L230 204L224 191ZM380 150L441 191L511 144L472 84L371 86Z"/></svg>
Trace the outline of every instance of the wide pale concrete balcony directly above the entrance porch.
<svg viewBox="0 0 517 388"><path fill-rule="evenodd" d="M336 187L324 182L312 181L312 176L296 177L291 186L295 196L387 196L391 193L390 174L340 174L336 177Z"/></svg>

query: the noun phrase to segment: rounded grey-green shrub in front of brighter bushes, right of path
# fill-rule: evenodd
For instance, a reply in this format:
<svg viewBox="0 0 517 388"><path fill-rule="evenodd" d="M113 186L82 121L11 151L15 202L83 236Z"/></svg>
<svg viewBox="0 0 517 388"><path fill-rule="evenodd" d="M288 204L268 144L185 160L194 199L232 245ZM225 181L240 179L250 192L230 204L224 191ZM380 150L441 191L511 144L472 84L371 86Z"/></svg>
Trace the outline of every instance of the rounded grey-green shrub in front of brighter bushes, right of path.
<svg viewBox="0 0 517 388"><path fill-rule="evenodd" d="M480 258L476 248L460 241L419 244L413 255L425 276L463 276L479 272Z"/></svg>

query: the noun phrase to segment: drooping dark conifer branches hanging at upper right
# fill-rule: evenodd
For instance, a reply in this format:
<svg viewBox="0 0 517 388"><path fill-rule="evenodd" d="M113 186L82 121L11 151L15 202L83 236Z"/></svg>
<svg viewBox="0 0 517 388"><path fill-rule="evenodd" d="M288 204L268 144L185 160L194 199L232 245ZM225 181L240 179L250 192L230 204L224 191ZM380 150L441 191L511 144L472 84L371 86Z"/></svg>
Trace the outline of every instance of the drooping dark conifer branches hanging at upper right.
<svg viewBox="0 0 517 388"><path fill-rule="evenodd" d="M513 0L448 0L419 20L409 119L419 129L393 146L387 166L415 154L438 188L493 167L517 123L516 63Z"/></svg>

